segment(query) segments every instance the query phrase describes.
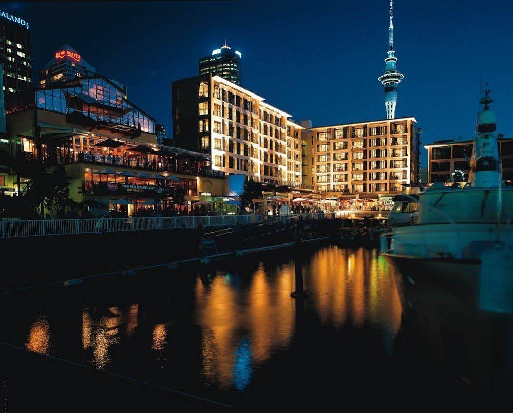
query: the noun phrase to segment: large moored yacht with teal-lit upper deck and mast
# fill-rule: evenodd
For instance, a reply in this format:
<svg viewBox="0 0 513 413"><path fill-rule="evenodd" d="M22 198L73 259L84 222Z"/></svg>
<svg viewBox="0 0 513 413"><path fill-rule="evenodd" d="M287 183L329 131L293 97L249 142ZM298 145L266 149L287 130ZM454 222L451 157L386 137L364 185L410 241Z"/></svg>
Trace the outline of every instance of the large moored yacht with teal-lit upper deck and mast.
<svg viewBox="0 0 513 413"><path fill-rule="evenodd" d="M411 197L416 221L383 234L380 250L423 342L488 401L513 407L513 188L502 184L491 102L486 90L468 182Z"/></svg>

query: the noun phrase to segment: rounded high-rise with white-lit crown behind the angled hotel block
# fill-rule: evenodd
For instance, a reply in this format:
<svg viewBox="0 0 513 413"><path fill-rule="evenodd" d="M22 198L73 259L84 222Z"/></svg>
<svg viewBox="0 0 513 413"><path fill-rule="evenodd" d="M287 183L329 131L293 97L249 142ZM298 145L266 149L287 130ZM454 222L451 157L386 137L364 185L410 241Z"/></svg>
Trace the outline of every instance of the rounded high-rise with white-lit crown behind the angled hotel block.
<svg viewBox="0 0 513 413"><path fill-rule="evenodd" d="M212 51L210 56L205 56L199 60L199 74L212 73L214 76L220 76L236 85L241 83L241 60L242 53L233 50L224 41L220 49Z"/></svg>

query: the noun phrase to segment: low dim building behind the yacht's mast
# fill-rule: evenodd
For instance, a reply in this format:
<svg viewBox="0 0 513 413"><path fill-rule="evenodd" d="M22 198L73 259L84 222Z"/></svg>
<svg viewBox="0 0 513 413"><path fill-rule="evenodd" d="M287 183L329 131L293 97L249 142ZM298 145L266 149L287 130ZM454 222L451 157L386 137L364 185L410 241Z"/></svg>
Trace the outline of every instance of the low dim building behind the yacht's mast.
<svg viewBox="0 0 513 413"><path fill-rule="evenodd" d="M502 180L511 185L513 182L513 139L499 138L499 154L502 165ZM443 140L424 145L428 152L428 183L447 182L454 171L461 171L465 181L470 172L469 160L472 156L473 141Z"/></svg>

